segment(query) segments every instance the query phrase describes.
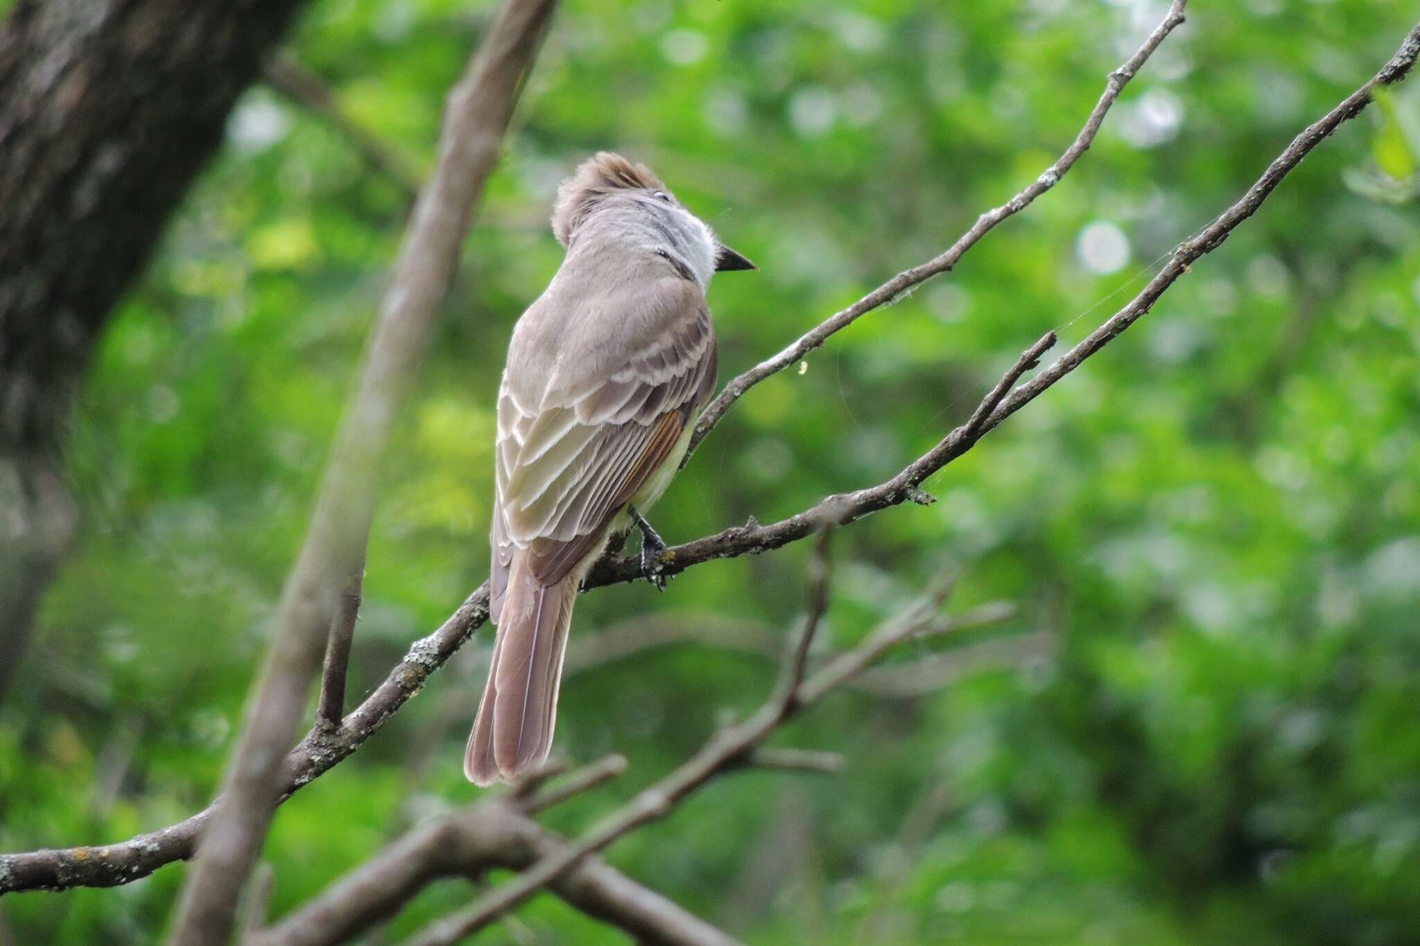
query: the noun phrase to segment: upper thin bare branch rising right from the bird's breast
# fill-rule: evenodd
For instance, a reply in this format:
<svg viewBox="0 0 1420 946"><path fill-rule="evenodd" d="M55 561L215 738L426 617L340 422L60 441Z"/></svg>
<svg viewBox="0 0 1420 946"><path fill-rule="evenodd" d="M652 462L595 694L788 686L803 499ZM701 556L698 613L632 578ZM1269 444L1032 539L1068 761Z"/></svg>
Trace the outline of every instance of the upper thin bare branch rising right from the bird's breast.
<svg viewBox="0 0 1420 946"><path fill-rule="evenodd" d="M876 308L888 305L893 299L899 298L907 289L926 282L934 275L950 271L967 250L974 247L981 237L988 234L998 223L1007 217L1012 217L1020 211L1031 206L1031 203L1044 194L1047 190L1059 183L1079 156L1089 150L1093 143L1095 136L1099 133L1099 126L1105 122L1105 115L1119 99L1119 94L1123 91L1129 79L1135 78L1135 74L1149 61L1153 51L1159 48L1159 44L1173 33L1173 30L1183 23L1183 9L1187 6L1189 0L1173 0L1169 7L1169 13L1164 16L1163 21L1154 27L1153 33L1145 40L1143 45L1129 57L1129 60L1120 65L1118 69L1109 74L1109 79L1105 82L1105 91L1100 94L1099 101L1095 104L1093 111L1091 111L1089 118L1085 119L1085 126L1079 129L1075 135L1075 140L1071 142L1069 148L1065 149L1054 165L1041 172L1041 176L1031 182L1024 190L1011 197L1008 201L985 211L977 217L971 228L961 234L954 244L947 247L940 255L923 262L922 265L913 267L912 269L905 269L895 275L888 282L853 302L846 309L836 312L831 318L825 319L809 332L804 333L794 343L785 347L778 355L760 362L751 367L744 374L740 374L728 384L724 390L706 406L704 413L700 414L700 420L696 423L696 433L690 438L690 448L686 451L686 458L682 460L682 465L690 460L690 454L694 452L700 441L704 440L706 434L720 423L724 413L730 410L734 401L740 400L746 391L751 387L770 377L782 372L790 365L794 365L805 355L821 346L828 340L831 335L846 329L849 325L856 322L861 316L868 315ZM1048 346L1047 346L1048 347Z"/></svg>

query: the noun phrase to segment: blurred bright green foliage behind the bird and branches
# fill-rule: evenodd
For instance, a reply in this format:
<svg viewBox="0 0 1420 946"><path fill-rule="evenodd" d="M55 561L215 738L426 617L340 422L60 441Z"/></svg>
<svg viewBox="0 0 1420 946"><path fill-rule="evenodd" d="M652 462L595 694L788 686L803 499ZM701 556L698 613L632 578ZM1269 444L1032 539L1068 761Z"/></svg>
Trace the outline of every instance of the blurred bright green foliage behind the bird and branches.
<svg viewBox="0 0 1420 946"><path fill-rule="evenodd" d="M728 379L954 240L1065 148L1162 18L1129 0L569 0L390 454L351 698L483 580L494 391L561 258L558 180L648 162L761 272L710 291ZM487 3L317 0L290 54L417 180ZM956 272L750 393L656 509L669 540L878 482L1042 332L1127 301L1414 9L1196 0L1055 190ZM905 648L780 745L836 777L714 783L609 859L751 943L1420 942L1420 81L1323 143L1082 370L843 529L843 647L944 566L1010 624ZM273 88L111 322L74 418L82 533L0 706L0 850L119 841L214 791L409 206ZM577 831L753 708L801 543L578 606L558 747L630 759ZM692 637L625 660L604 634ZM467 803L483 633L285 804L273 913ZM879 689L885 689L880 686ZM14 943L158 936L183 867L4 898ZM430 888L372 943L469 899ZM542 896L477 942L619 943Z"/></svg>

